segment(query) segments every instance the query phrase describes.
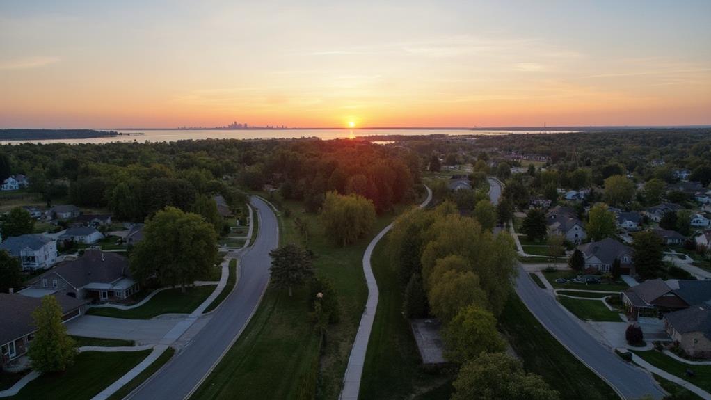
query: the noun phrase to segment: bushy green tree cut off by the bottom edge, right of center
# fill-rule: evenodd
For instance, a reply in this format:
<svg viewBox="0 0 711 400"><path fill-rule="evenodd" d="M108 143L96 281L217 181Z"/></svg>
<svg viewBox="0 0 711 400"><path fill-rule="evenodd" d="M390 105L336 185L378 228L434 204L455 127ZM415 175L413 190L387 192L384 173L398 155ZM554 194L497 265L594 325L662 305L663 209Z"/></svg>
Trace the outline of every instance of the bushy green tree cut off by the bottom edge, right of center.
<svg viewBox="0 0 711 400"><path fill-rule="evenodd" d="M557 400L536 374L526 373L521 362L503 353L483 353L466 362L454 381L451 400Z"/></svg>

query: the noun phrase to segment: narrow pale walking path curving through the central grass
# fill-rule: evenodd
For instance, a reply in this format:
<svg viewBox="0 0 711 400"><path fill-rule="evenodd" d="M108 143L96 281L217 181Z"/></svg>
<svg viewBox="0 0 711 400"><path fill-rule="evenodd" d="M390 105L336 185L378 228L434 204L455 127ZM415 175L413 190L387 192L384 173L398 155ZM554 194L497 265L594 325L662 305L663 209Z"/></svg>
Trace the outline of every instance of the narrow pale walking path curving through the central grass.
<svg viewBox="0 0 711 400"><path fill-rule="evenodd" d="M427 185L427 198L419 205L425 207L432 201L432 190ZM363 316L360 317L360 325L358 325L358 333L355 334L355 342L351 348L351 357L348 357L348 367L346 374L343 377L343 390L341 400L358 400L358 391L360 391L360 377L363 376L363 364L365 363L365 352L368 350L368 340L370 339L370 331L373 330L373 320L375 320L375 310L378 309L378 283L375 281L373 269L370 266L370 256L373 254L375 245L383 239L385 234L392 229L392 224L387 225L373 240L368 244L363 254L363 274L365 274L365 283L368 284L368 301L365 303Z"/></svg>

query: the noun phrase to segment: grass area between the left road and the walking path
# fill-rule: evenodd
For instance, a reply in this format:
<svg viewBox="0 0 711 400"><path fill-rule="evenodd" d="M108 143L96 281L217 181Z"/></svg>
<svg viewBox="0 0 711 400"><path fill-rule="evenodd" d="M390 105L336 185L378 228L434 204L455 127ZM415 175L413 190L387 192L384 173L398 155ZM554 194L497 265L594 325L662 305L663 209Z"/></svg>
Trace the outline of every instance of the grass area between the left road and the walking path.
<svg viewBox="0 0 711 400"><path fill-rule="evenodd" d="M284 207L292 211L304 208L301 202L294 201L282 201L280 208ZM336 247L324 234L318 215L292 214L309 224L309 237L301 237L294 225L294 217L282 215L279 217L279 243L303 244L316 254L316 274L331 280L338 293L341 322L329 326L326 341L320 347L319 336L309 321L311 299L308 289L297 288L294 296L289 298L287 291L267 288L245 332L205 379L193 399L294 399L314 357L319 357L319 349L316 398L338 397L368 297L361 264L363 252L370 239L396 214L381 215L368 237L346 247Z"/></svg>

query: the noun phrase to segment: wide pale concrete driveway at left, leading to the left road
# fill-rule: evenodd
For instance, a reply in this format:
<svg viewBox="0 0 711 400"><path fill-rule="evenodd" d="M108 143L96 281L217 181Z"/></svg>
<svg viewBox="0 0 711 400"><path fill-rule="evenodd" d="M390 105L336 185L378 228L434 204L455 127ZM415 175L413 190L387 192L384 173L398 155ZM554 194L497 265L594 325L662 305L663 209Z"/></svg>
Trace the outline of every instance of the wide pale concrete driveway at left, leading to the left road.
<svg viewBox="0 0 711 400"><path fill-rule="evenodd" d="M184 316L184 315L183 315ZM70 335L135 340L138 345L158 343L180 320L127 320L83 315L66 323Z"/></svg>

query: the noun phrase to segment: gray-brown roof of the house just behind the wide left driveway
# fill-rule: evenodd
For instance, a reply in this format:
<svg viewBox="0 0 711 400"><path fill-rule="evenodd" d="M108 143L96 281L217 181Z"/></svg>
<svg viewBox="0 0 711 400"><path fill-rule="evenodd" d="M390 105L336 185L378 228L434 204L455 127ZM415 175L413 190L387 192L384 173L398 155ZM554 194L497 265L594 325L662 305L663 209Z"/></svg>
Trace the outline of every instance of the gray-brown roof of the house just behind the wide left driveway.
<svg viewBox="0 0 711 400"><path fill-rule="evenodd" d="M65 261L31 282L34 283L53 275L58 275L75 288L80 288L88 283L112 283L118 279L130 278L131 272L128 259L125 256L90 249L78 259Z"/></svg>

